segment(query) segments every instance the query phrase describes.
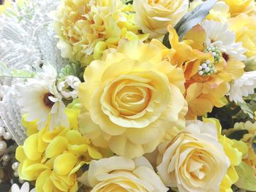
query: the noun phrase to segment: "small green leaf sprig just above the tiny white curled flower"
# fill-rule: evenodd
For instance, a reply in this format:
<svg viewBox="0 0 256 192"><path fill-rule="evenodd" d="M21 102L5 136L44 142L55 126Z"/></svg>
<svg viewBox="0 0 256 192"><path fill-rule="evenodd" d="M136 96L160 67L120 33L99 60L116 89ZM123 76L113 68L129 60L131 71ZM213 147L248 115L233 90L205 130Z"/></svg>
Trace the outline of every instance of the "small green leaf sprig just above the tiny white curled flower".
<svg viewBox="0 0 256 192"><path fill-rule="evenodd" d="M61 69L61 72L59 73L59 78L64 79L69 75L73 75L75 77L78 77L80 80L83 80L83 72L84 69L82 66L80 66L80 64L70 64L64 66L64 68Z"/></svg>

